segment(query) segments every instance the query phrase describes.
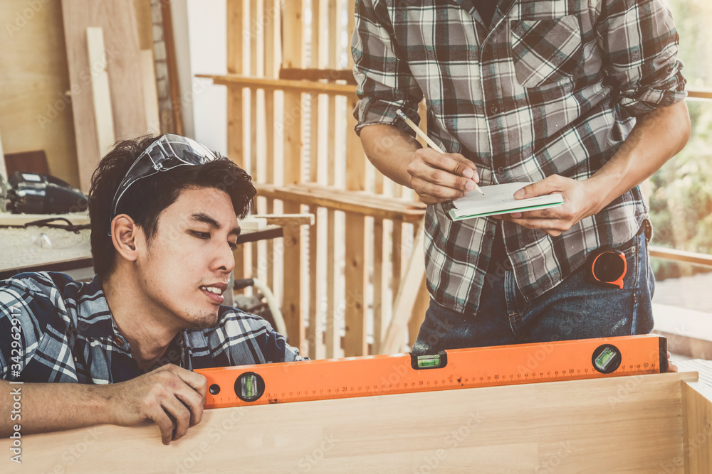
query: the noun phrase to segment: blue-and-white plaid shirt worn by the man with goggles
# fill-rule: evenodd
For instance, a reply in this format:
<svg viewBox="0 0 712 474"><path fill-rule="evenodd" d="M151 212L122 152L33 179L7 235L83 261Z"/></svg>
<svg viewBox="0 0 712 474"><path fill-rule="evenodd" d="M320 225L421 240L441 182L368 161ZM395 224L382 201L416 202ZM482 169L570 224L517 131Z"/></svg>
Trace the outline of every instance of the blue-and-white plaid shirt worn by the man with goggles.
<svg viewBox="0 0 712 474"><path fill-rule="evenodd" d="M156 367L172 363L192 370L300 359L262 318L221 306L218 325L178 333ZM80 283L43 272L0 281L0 379L108 384L142 373L98 276Z"/></svg>

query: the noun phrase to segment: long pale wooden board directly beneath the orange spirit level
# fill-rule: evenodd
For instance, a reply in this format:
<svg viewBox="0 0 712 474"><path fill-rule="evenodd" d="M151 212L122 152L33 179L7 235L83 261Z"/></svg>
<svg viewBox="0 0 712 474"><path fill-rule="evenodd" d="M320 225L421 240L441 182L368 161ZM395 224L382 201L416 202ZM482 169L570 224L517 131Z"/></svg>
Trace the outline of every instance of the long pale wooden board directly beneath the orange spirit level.
<svg viewBox="0 0 712 474"><path fill-rule="evenodd" d="M275 472L682 473L668 464L684 456L681 381L693 379L666 373L214 409L171 446L153 424L23 435L22 464L3 456L0 470L224 472L239 460L257 471L268 460ZM10 446L0 441L5 453ZM107 463L108 454L120 462Z"/></svg>

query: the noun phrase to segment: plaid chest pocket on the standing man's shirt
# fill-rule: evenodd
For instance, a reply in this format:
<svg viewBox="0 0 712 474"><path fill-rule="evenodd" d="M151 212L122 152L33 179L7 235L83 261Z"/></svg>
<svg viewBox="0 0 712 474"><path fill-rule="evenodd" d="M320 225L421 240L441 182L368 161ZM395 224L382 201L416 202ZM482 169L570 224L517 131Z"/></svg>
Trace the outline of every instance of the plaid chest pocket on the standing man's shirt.
<svg viewBox="0 0 712 474"><path fill-rule="evenodd" d="M511 23L511 48L517 80L540 87L575 75L582 60L576 16Z"/></svg>

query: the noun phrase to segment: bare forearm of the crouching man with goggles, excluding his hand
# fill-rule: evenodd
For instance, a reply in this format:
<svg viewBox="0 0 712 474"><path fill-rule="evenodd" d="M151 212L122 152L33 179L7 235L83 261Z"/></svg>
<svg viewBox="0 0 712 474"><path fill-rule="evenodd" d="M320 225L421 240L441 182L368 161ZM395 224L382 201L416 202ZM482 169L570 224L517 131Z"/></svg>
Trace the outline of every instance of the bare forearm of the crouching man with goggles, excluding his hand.
<svg viewBox="0 0 712 474"><path fill-rule="evenodd" d="M109 423L108 386L86 384L10 384L0 380L0 436L14 426L22 434Z"/></svg>

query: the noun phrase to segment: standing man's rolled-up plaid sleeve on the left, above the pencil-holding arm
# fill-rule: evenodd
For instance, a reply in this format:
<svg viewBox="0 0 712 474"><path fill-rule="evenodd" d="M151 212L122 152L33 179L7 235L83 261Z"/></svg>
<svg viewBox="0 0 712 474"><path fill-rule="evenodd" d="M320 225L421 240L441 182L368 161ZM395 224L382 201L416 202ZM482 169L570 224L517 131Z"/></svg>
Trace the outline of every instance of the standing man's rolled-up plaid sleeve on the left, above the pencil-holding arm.
<svg viewBox="0 0 712 474"><path fill-rule="evenodd" d="M419 123L418 104L423 92L403 58L399 58L387 7L379 0L357 0L351 52L359 101L354 109L355 131L372 124L396 125L396 110Z"/></svg>

